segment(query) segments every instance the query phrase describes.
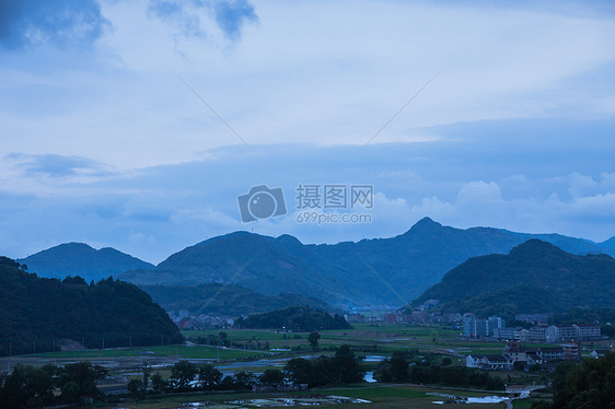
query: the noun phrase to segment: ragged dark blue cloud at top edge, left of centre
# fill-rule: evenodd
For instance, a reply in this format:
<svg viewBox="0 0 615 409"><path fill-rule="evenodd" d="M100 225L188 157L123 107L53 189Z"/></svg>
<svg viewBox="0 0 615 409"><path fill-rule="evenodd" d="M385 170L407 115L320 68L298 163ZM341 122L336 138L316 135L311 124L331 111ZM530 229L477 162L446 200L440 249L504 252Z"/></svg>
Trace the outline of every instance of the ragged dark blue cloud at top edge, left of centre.
<svg viewBox="0 0 615 409"><path fill-rule="evenodd" d="M210 15L224 36L231 40L241 37L246 21L257 21L254 5L247 0L150 0L149 12L172 23L182 35L205 37L207 30L199 13Z"/></svg>

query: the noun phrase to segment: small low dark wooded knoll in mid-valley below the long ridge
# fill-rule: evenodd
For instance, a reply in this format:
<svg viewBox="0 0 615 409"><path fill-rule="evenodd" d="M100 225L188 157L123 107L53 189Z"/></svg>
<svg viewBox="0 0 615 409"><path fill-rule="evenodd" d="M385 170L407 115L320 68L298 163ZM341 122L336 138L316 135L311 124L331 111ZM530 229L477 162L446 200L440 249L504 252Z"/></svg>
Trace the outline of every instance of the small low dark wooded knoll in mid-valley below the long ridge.
<svg viewBox="0 0 615 409"><path fill-rule="evenodd" d="M323 329L350 329L350 324L337 314L312 309L306 305L291 306L252 314L235 322L239 328L287 329L291 331L313 331Z"/></svg>

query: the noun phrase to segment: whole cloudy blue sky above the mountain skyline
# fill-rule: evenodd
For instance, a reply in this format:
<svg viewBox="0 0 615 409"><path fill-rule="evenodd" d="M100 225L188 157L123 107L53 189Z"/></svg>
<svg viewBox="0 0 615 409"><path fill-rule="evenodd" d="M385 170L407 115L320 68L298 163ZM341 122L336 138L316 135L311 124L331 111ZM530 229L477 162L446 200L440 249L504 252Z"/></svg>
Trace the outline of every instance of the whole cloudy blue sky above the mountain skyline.
<svg viewBox="0 0 615 409"><path fill-rule="evenodd" d="M613 38L611 1L3 0L0 254L605 241Z"/></svg>

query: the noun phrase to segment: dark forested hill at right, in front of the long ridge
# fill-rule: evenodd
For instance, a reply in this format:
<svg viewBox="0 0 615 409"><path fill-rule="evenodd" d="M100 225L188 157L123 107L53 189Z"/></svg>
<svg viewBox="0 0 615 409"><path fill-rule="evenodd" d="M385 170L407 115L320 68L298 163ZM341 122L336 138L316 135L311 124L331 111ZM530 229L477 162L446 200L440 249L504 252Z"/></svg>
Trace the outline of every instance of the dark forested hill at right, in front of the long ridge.
<svg viewBox="0 0 615 409"><path fill-rule="evenodd" d="M449 271L413 304L483 314L565 312L615 307L615 259L577 256L549 243L527 241L508 255L474 257Z"/></svg>

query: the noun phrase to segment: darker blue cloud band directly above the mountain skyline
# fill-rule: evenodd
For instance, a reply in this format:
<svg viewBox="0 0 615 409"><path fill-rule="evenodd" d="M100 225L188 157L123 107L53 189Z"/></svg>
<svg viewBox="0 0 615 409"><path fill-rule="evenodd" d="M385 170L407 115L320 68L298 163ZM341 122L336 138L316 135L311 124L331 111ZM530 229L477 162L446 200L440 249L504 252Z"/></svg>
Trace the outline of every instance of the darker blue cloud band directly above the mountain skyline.
<svg viewBox="0 0 615 409"><path fill-rule="evenodd" d="M402 234L423 217L457 227L557 232L596 242L614 235L615 172L604 171L612 161L601 155L613 150L613 122L580 126L593 135L583 150L567 124L509 121L506 128L520 137L504 145L494 140L492 127L438 127L430 130L438 140L373 144L359 156L355 145L255 145L256 155L242 145L127 172L82 157L12 154L2 161L2 208L10 211L0 221L8 232L0 248L24 256L24 248L85 241L158 262L236 230L335 243ZM535 137L523 137L526 127L558 135L557 149L532 144ZM288 214L244 224L237 196L262 184L283 189ZM373 185L373 209L341 211L369 214L371 222L298 222L305 211L298 209L300 184ZM37 241L20 238L24 229L37 231Z"/></svg>

